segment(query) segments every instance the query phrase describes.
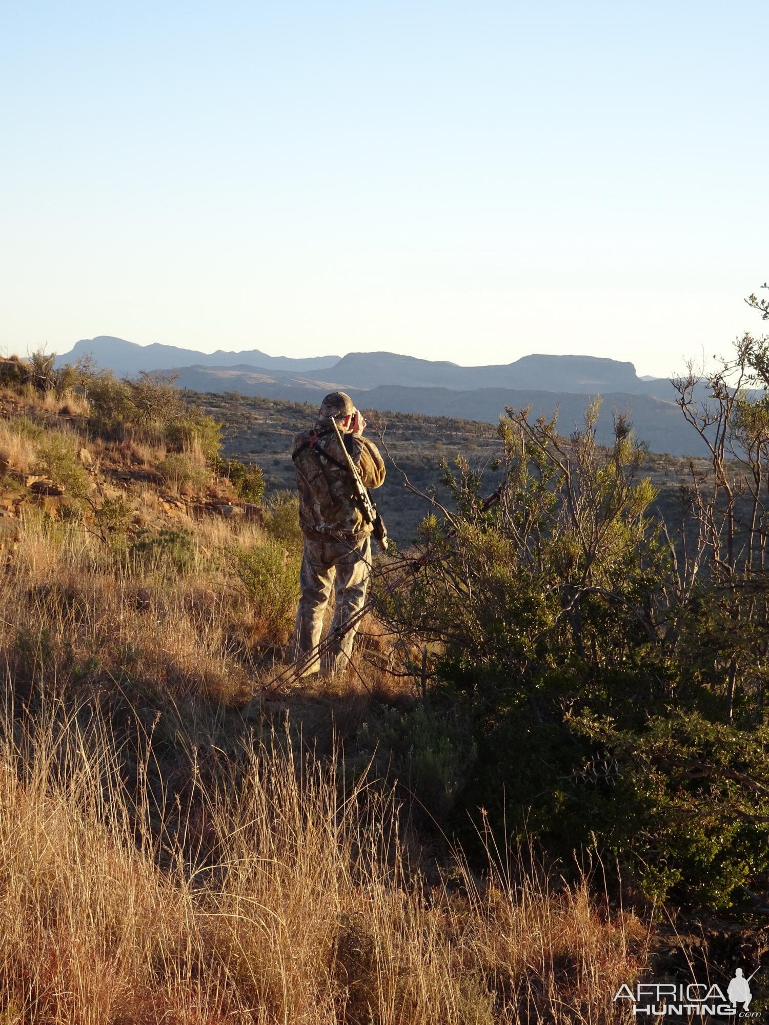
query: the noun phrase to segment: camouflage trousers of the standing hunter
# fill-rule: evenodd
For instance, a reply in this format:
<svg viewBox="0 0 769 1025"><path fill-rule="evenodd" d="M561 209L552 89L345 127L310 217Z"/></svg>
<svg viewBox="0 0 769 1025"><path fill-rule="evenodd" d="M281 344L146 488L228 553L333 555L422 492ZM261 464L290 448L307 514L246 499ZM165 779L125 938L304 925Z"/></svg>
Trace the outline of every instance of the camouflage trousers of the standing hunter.
<svg viewBox="0 0 769 1025"><path fill-rule="evenodd" d="M368 576L371 569L371 538L366 536L358 542L329 538L318 540L305 538L299 584L301 598L296 610L292 657L300 658L315 648L323 631L323 614L334 588L336 608L331 630L336 629L366 601ZM306 674L335 672L343 669L353 652L353 642L358 627L349 630L335 641L324 655L323 663L316 659L306 670Z"/></svg>

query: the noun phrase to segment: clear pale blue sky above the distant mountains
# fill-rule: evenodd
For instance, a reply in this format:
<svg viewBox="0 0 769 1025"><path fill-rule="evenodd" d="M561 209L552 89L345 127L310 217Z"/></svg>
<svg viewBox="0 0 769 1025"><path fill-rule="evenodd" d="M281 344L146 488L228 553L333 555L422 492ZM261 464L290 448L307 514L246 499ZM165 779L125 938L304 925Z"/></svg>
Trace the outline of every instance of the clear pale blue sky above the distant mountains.
<svg viewBox="0 0 769 1025"><path fill-rule="evenodd" d="M664 375L760 328L769 7L5 4L0 347Z"/></svg>

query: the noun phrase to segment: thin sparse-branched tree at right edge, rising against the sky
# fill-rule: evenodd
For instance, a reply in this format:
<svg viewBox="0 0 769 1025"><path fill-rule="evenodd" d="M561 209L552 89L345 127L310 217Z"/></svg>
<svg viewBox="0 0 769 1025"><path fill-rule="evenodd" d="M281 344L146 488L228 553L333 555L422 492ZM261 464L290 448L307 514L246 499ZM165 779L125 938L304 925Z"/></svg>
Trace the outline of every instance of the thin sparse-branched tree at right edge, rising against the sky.
<svg viewBox="0 0 769 1025"><path fill-rule="evenodd" d="M761 309L752 296L751 305ZM704 645L693 653L710 663L723 690L728 721L739 706L763 719L769 638L769 402L751 385L769 386L769 339L744 334L715 371L689 367L675 378L678 403L710 453L705 469L692 461L685 499L688 533L671 542L684 602L707 602ZM709 398L695 398L705 383ZM703 594L703 587L706 590ZM723 687L720 681L723 680Z"/></svg>

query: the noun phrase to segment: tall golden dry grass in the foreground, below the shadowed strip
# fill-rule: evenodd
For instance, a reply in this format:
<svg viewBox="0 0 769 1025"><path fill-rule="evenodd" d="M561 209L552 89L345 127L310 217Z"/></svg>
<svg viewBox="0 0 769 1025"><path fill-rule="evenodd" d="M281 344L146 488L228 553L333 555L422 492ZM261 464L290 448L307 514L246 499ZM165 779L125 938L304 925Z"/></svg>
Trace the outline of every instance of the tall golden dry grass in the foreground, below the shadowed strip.
<svg viewBox="0 0 769 1025"><path fill-rule="evenodd" d="M117 744L54 701L21 725L6 709L0 734L8 1021L600 1023L642 965L639 924L585 885L493 863L481 883L457 859L428 887L392 795L346 786L338 756L244 738L211 771L198 750L183 805L152 727Z"/></svg>

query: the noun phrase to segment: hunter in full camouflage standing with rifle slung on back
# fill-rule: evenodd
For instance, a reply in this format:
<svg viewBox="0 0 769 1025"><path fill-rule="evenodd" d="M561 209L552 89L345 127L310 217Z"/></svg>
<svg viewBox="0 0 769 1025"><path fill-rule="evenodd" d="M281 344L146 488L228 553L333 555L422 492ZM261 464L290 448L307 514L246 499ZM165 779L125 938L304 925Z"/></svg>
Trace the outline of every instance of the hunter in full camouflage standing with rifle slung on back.
<svg viewBox="0 0 769 1025"><path fill-rule="evenodd" d="M371 525L353 497L351 473L331 423L341 432L366 488L385 482L385 463L375 445L363 437L366 421L343 392L327 395L311 430L296 435L293 459L299 491L299 525L305 535L292 658L311 652L321 640L323 614L331 587L336 607L331 629L341 626L366 601L371 569ZM306 670L343 669L353 650L355 629L333 644L324 657Z"/></svg>

